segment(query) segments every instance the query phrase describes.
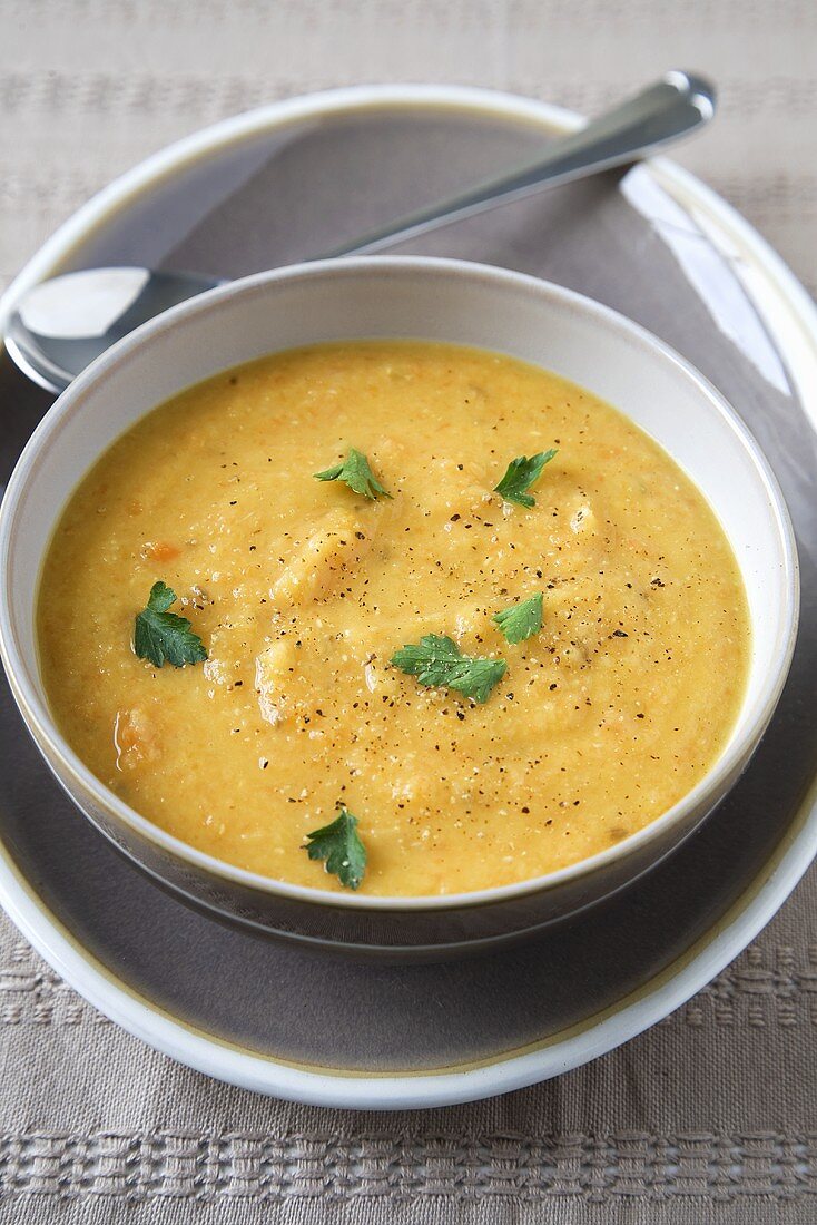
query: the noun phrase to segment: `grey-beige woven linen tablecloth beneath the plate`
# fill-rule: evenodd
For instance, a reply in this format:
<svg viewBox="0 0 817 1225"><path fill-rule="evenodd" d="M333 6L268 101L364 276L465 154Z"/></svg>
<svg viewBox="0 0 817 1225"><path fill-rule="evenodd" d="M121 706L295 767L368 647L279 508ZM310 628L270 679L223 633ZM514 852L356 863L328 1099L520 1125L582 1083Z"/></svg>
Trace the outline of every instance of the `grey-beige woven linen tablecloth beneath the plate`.
<svg viewBox="0 0 817 1225"><path fill-rule="evenodd" d="M0 0L0 284L120 170L262 102L425 80L592 111L670 65L723 89L718 126L681 160L813 289L813 0ZM0 1221L806 1225L816 1040L813 870L742 957L627 1046L401 1115L189 1072L96 1013L4 919Z"/></svg>

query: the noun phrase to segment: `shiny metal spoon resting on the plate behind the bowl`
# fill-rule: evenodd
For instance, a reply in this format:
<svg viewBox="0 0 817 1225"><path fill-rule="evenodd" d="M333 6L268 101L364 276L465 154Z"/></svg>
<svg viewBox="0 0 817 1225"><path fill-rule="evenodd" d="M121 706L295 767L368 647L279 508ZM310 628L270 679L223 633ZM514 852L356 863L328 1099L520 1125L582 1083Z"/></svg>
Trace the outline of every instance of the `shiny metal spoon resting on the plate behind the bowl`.
<svg viewBox="0 0 817 1225"><path fill-rule="evenodd" d="M626 165L703 126L714 113L715 91L708 81L691 72L668 72L581 131L550 145L538 160L312 258L377 251L545 186ZM217 277L149 268L70 272L36 285L21 299L6 326L5 344L29 379L59 393L140 323L220 283Z"/></svg>

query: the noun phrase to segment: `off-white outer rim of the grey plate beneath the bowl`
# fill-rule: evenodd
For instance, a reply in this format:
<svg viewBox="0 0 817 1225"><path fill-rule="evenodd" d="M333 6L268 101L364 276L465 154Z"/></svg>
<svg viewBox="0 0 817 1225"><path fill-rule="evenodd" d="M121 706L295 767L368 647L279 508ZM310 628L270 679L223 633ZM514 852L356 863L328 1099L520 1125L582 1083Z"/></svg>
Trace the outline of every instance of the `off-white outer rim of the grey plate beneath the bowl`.
<svg viewBox="0 0 817 1225"><path fill-rule="evenodd" d="M304 118L383 105L484 111L574 131L583 119L550 103L491 89L436 85L353 86L269 103L222 120L138 163L75 212L38 249L0 298L0 326L29 285L114 208L207 149L234 143ZM781 257L755 228L695 175L666 159L649 163L661 186L687 207L697 206L732 240L747 263L764 273L780 317L797 325L800 360L817 368L817 306ZM772 327L747 288L761 317ZM778 326L783 326L779 323ZM804 390L805 377L797 379ZM812 385L813 386L813 385ZM812 398L817 399L813 396ZM805 403L805 401L804 401ZM817 405L812 407L812 412ZM808 410L808 407L806 407ZM85 1000L154 1050L217 1079L305 1105L401 1110L453 1105L507 1093L559 1076L604 1055L664 1019L717 976L783 905L817 854L817 780L755 880L724 915L670 965L608 1009L532 1047L505 1051L479 1063L405 1073L316 1068L249 1051L194 1029L119 979L64 926L20 872L0 839L0 904L37 952Z"/></svg>

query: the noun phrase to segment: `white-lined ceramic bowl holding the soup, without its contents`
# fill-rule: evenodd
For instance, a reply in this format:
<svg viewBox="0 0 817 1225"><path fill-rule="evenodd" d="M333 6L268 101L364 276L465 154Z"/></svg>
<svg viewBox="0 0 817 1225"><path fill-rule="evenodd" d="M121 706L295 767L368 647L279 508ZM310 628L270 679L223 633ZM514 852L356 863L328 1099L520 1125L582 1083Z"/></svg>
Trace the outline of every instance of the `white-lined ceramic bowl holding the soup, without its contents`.
<svg viewBox="0 0 817 1225"><path fill-rule="evenodd" d="M588 387L665 447L731 541L753 635L732 734L677 805L599 855L518 884L443 898L290 886L158 829L83 766L51 719L37 662L37 584L56 519L82 475L125 429L184 387L277 349L352 337L480 345ZM174 307L116 344L60 397L20 458L0 508L0 652L20 709L56 778L107 837L176 893L222 916L393 957L517 938L657 864L748 763L783 688L797 620L796 552L783 497L755 440L699 374L641 327L578 294L508 271L427 258L327 261L249 277Z"/></svg>

